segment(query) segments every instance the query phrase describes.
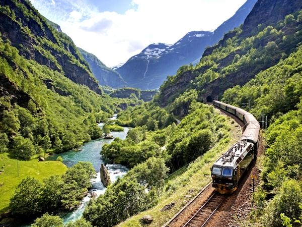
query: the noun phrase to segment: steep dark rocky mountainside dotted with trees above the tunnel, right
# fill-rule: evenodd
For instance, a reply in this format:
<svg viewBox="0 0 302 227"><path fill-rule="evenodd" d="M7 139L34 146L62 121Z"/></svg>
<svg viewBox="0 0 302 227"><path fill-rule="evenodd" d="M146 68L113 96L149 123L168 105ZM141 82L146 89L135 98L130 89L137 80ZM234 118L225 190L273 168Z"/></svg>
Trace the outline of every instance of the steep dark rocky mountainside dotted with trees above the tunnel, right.
<svg viewBox="0 0 302 227"><path fill-rule="evenodd" d="M157 101L161 106L171 105L179 115L188 110L193 95L200 101L211 101L276 65L302 41L301 8L298 0L258 0L243 26L207 48L196 67L182 67L169 77Z"/></svg>

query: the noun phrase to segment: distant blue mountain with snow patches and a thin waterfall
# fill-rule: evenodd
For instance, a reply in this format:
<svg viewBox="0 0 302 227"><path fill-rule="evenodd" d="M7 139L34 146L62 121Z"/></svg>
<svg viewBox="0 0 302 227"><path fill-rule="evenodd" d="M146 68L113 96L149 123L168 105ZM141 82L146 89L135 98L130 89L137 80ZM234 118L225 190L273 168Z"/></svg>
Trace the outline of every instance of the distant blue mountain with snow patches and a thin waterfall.
<svg viewBox="0 0 302 227"><path fill-rule="evenodd" d="M215 44L223 34L244 22L257 0L248 0L236 14L214 32L192 31L175 44L154 43L132 56L115 70L130 87L159 88L168 75L174 75L182 65L199 62L204 49Z"/></svg>

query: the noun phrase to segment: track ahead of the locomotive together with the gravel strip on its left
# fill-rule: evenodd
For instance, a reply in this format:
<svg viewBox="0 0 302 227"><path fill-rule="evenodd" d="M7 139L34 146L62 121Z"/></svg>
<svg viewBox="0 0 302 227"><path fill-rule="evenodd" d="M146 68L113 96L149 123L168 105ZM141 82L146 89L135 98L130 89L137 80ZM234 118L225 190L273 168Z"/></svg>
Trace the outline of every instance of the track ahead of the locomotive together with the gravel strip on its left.
<svg viewBox="0 0 302 227"><path fill-rule="evenodd" d="M208 184L164 226L205 226L225 198Z"/></svg>

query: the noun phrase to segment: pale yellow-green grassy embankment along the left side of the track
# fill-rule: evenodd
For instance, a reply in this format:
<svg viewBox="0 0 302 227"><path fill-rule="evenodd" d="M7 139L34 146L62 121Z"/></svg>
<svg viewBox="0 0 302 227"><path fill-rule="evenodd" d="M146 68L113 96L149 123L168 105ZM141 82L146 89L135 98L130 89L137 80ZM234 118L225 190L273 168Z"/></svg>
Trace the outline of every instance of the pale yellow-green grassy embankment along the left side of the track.
<svg viewBox="0 0 302 227"><path fill-rule="evenodd" d="M162 226L172 218L188 200L192 199L186 198L185 195L193 197L211 181L210 167L213 162L240 138L240 127L237 124L232 124L233 120L231 118L228 118L228 122L231 126L228 138L216 144L203 156L197 158L188 166L185 172L168 180L166 187L169 185L170 188L174 188L175 190L164 192L157 206L141 212L117 226L143 226L140 224L139 219L144 215L152 215L154 218L153 222L148 225L149 227ZM189 192L192 190L194 191L193 193ZM175 206L170 210L162 212L161 209L171 202L175 202Z"/></svg>

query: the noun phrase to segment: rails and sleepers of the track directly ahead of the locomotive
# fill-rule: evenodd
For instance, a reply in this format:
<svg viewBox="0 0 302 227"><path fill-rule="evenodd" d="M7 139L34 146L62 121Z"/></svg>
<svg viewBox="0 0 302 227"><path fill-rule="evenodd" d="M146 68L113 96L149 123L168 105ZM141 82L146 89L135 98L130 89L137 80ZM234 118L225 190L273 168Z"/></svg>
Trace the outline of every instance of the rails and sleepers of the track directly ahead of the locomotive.
<svg viewBox="0 0 302 227"><path fill-rule="evenodd" d="M205 226L224 200L224 195L220 195L214 191L208 200L192 215L192 217L186 223L184 223L183 227Z"/></svg>

